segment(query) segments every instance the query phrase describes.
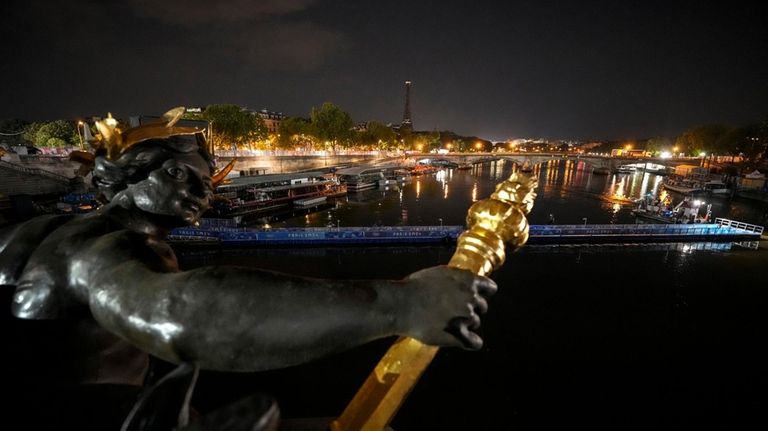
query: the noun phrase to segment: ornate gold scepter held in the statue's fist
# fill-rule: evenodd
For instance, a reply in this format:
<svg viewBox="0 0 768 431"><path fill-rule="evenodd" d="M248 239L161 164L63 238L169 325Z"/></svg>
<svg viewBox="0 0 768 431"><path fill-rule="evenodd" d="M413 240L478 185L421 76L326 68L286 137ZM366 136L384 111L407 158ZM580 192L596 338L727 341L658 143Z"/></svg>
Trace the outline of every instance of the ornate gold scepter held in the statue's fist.
<svg viewBox="0 0 768 431"><path fill-rule="evenodd" d="M533 208L536 179L513 173L488 199L467 212L468 230L461 234L448 266L487 275L504 263L505 245L512 251L528 240L526 214ZM413 389L438 348L399 338L379 361L344 412L331 422L332 431L382 431Z"/></svg>

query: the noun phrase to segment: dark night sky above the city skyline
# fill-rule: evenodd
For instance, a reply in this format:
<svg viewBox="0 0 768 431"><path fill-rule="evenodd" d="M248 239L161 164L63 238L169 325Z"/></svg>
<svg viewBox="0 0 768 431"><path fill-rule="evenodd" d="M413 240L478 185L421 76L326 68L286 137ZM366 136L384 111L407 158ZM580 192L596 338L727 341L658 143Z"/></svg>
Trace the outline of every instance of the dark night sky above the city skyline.
<svg viewBox="0 0 768 431"><path fill-rule="evenodd" d="M674 136L768 116L768 3L4 0L0 118L330 101L417 130Z"/></svg>

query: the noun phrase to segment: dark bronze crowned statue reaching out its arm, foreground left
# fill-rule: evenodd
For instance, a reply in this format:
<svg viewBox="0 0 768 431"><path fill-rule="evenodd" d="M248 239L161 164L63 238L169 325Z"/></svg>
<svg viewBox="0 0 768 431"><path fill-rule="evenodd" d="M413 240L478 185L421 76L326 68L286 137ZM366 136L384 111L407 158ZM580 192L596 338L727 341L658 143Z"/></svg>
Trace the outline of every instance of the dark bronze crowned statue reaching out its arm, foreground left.
<svg viewBox="0 0 768 431"><path fill-rule="evenodd" d="M213 160L182 111L121 132L98 124L85 215L40 216L0 232L11 313L62 322L77 384L143 385L148 356L221 371L277 369L392 335L479 349L495 283L438 266L403 280L319 280L227 266L180 271L164 241L211 204ZM109 120L109 119L108 119Z"/></svg>

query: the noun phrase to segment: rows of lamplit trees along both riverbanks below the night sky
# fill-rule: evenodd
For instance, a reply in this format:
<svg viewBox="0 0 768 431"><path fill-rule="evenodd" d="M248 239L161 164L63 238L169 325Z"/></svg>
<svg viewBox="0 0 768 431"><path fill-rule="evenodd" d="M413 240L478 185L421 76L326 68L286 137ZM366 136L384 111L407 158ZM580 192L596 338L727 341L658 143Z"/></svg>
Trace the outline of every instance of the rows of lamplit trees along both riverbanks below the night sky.
<svg viewBox="0 0 768 431"><path fill-rule="evenodd" d="M349 113L326 102L312 108L308 117L286 117L279 129L267 130L258 115L237 105L209 105L202 112L190 112L185 118L208 122L215 149L307 151L338 149L381 149L431 151L446 148L453 151L489 151L493 144L477 137L462 137L452 132L395 131L378 121L356 127ZM123 125L126 127L126 125ZM83 145L81 127L84 122L56 120L28 123L18 119L0 120L0 141L6 145L33 145L42 148L78 147ZM91 129L96 134L95 129ZM645 149L660 153L672 151L687 155L742 155L755 161L764 158L768 145L768 118L762 123L732 127L705 124L689 128L676 137L654 137Z"/></svg>

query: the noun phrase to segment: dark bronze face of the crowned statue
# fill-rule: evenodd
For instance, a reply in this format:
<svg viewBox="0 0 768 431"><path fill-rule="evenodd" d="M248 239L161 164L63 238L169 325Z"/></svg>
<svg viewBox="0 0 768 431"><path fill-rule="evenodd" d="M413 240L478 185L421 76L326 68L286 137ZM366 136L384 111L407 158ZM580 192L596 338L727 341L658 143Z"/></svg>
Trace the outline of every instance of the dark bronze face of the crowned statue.
<svg viewBox="0 0 768 431"><path fill-rule="evenodd" d="M210 208L213 198L211 170L197 153L176 154L132 186L140 209L194 224Z"/></svg>

